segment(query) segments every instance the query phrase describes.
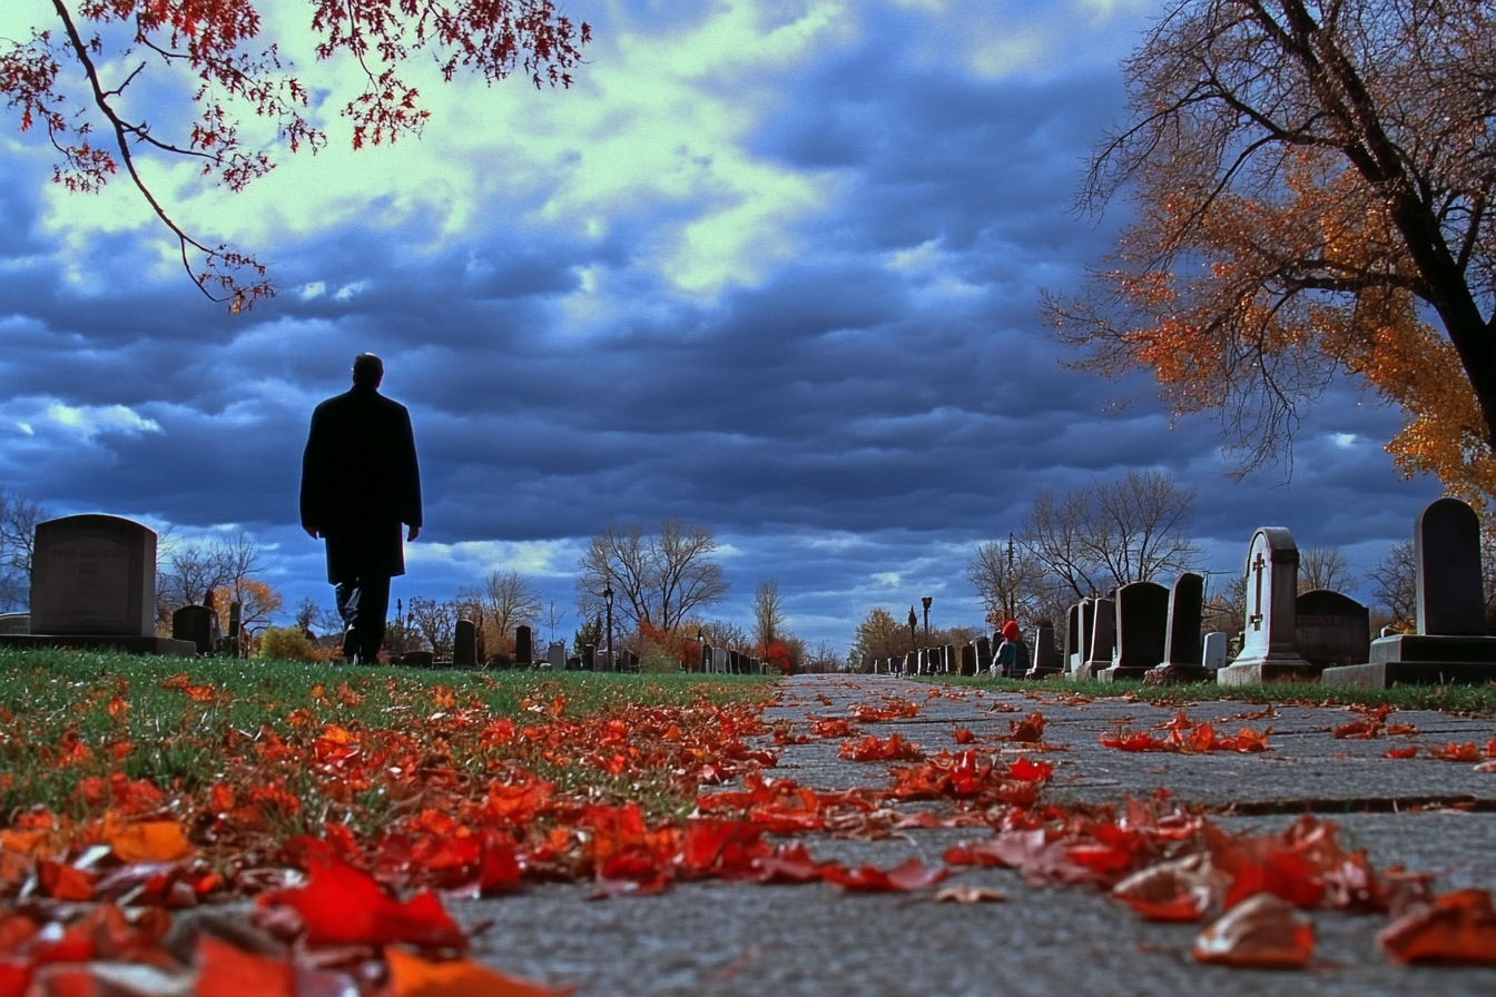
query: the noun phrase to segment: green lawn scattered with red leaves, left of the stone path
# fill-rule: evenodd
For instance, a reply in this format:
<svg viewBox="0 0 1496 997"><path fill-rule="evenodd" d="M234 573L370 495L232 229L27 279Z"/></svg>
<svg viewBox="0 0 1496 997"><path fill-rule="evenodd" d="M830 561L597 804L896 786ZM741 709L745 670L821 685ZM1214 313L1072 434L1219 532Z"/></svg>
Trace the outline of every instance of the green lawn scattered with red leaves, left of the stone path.
<svg viewBox="0 0 1496 997"><path fill-rule="evenodd" d="M199 701L180 688L163 688L178 674L211 692ZM766 677L682 673L364 668L0 650L0 812L31 804L54 812L76 809L78 782L111 771L193 792L227 777L218 746L253 740L262 728L287 740L304 738L326 723L404 731L426 726L423 720L443 713L477 709L485 714L480 725L510 717L525 726L549 720L545 709L557 697L565 701L562 716L579 720L625 703L690 707L702 700L763 701L772 685ZM476 740L476 731L467 737ZM60 764L67 744L87 749L87 756ZM459 770L482 773L483 759L458 750L453 755ZM579 777L585 774L568 776ZM314 795L310 783L298 788L308 801Z"/></svg>

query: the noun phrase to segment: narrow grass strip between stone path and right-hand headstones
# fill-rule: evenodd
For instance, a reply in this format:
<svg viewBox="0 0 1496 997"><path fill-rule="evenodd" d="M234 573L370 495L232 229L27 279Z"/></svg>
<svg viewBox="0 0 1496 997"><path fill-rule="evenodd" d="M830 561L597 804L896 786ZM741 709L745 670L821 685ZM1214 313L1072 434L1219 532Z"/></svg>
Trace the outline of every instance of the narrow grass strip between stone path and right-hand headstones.
<svg viewBox="0 0 1496 997"><path fill-rule="evenodd" d="M1270 682L1261 686L1221 686L1194 683L1185 686L1144 686L1140 682L1023 682L1017 679L975 679L960 676L908 676L914 682L975 686L999 692L1073 692L1095 698L1134 694L1147 703L1198 703L1230 700L1237 703L1312 703L1327 706L1391 704L1400 710L1442 710L1462 716L1496 714L1496 683L1484 686L1397 686L1394 689L1357 689L1352 686L1321 686L1303 682Z"/></svg>

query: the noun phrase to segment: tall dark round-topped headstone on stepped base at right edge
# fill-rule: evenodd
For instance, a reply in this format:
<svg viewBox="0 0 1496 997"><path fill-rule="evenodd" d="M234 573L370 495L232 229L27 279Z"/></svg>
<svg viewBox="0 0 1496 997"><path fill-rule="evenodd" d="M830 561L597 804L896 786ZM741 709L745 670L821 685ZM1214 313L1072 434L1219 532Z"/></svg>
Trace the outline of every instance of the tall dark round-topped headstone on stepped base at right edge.
<svg viewBox="0 0 1496 997"><path fill-rule="evenodd" d="M1475 510L1442 498L1414 528L1418 632L1373 640L1369 661L1325 668L1325 685L1387 689L1394 683L1496 680L1496 637L1486 635L1481 523Z"/></svg>

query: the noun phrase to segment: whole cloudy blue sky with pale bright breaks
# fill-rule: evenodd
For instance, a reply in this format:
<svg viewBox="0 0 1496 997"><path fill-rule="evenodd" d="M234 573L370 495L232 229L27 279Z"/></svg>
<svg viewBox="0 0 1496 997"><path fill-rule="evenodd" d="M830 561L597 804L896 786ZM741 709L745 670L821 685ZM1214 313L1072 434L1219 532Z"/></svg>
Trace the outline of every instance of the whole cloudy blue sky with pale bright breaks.
<svg viewBox="0 0 1496 997"><path fill-rule="evenodd" d="M353 67L310 58L310 4L262 6L329 148L241 194L144 163L186 227L269 265L248 314L197 294L130 187L66 194L45 136L3 118L0 483L57 513L247 529L287 605L331 605L299 459L362 350L422 459L393 595L515 568L558 637L607 522L711 528L715 616L747 623L773 577L791 629L845 649L922 595L977 625L972 547L1041 490L1165 469L1198 487L1216 571L1269 523L1364 570L1439 493L1394 471L1397 413L1355 386L1305 423L1291 480L1234 483L1209 419L1061 368L1038 288L1077 287L1126 218L1071 203L1153 0L571 0L595 40L570 91L422 69L423 138L359 152ZM6 0L0 37L49 12Z"/></svg>

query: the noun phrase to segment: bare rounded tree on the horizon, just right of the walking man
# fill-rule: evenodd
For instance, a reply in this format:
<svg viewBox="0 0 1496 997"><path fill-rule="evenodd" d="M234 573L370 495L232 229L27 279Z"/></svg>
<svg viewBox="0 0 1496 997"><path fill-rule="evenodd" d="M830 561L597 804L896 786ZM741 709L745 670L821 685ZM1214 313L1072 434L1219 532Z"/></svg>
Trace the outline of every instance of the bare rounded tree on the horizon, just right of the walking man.
<svg viewBox="0 0 1496 997"><path fill-rule="evenodd" d="M601 613L610 587L615 619L675 631L694 610L727 596L715 550L712 531L676 519L664 520L654 535L637 523L609 523L577 561L577 608L582 616Z"/></svg>

